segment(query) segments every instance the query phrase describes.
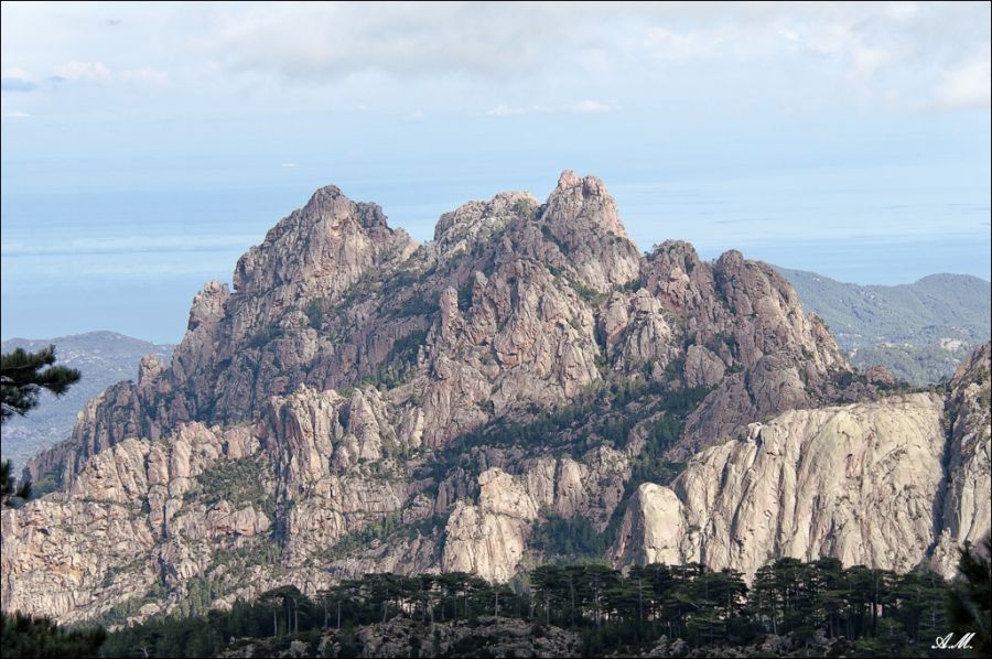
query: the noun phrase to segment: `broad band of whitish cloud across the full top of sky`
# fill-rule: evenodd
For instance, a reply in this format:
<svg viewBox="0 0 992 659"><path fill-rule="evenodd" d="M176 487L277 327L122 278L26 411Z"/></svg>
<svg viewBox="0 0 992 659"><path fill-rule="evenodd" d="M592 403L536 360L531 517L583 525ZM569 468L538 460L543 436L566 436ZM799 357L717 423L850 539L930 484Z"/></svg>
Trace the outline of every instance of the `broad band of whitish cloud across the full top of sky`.
<svg viewBox="0 0 992 659"><path fill-rule="evenodd" d="M203 3L160 7L150 20L143 7L6 3L4 61L18 53L53 78L4 71L3 90L109 80L308 101L331 98L323 86L333 86L342 105L374 98L377 110L401 106L403 116L440 105L490 108L493 117L583 111L563 106L587 97L625 107L733 99L734 109L790 111L984 98L955 72L970 71L989 41L988 3L563 4ZM83 29L120 19L127 29L114 30L112 43L94 43ZM57 39L46 48L35 33Z"/></svg>

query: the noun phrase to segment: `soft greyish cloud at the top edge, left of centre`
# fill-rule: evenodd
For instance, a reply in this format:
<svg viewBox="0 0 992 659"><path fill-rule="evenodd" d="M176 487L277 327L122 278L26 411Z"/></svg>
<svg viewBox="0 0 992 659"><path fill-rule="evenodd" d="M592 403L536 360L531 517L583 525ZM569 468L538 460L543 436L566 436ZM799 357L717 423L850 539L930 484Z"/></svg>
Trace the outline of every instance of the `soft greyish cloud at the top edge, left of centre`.
<svg viewBox="0 0 992 659"><path fill-rule="evenodd" d="M540 20L540 37L529 31L529 17L549 13L567 15L459 2L259 6L223 13L209 47L236 71L304 82L375 72L508 80L538 66L549 37L567 33L571 21Z"/></svg>

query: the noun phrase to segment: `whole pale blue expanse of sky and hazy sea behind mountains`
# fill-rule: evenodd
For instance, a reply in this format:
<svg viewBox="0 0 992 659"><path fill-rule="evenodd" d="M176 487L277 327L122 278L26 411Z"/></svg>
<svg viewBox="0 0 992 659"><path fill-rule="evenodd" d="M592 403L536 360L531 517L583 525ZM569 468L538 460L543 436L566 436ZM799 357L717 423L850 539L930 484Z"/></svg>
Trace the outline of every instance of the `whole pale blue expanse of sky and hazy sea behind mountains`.
<svg viewBox="0 0 992 659"><path fill-rule="evenodd" d="M175 343L322 185L427 241L564 169L644 250L989 278L988 2L0 7L3 338Z"/></svg>

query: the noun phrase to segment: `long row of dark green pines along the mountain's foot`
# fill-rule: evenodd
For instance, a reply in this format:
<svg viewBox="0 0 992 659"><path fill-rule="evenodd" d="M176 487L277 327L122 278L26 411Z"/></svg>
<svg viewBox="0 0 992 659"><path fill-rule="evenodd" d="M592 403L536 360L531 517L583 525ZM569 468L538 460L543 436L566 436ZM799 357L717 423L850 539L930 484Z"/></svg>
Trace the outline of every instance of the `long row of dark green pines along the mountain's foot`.
<svg viewBox="0 0 992 659"><path fill-rule="evenodd" d="M110 635L101 655L209 657L238 647L242 641L231 639L239 638L255 639L261 653L272 655L293 640L315 648L321 635L334 635L339 656L359 656L359 626L403 616L422 629L412 646L420 653L433 648L439 656L440 637L430 623L473 628L481 616L498 615L527 620L533 638L547 635L550 626L573 629L586 657L640 656L662 635L709 648L790 635L808 644L804 656L822 656L822 647L815 646L818 634L835 639L834 650L845 656L913 657L926 653L945 629L948 593L944 580L926 570L898 576L863 566L845 570L835 559L774 561L751 588L738 572L699 564L634 566L626 576L602 564L541 565L525 582L529 587L511 590L465 573L367 574L312 597L282 586L254 603L238 601L227 612L121 629ZM477 637L461 642L445 656L479 656L486 649Z"/></svg>

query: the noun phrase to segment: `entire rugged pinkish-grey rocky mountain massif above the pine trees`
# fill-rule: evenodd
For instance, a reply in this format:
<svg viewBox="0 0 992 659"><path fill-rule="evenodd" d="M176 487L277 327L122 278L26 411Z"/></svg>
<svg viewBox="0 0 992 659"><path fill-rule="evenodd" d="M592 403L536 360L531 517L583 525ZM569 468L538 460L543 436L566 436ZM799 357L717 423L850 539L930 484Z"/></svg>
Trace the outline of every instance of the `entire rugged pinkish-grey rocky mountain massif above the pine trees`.
<svg viewBox="0 0 992 659"><path fill-rule="evenodd" d="M936 536L952 548L988 529L953 494L958 476L962 493L986 483L982 417L961 407L981 383L910 395L853 370L767 264L703 262L678 241L639 253L593 176L562 173L544 203L464 204L425 245L321 188L239 259L233 290L204 287L187 327L171 364L142 358L29 462L58 490L2 512L4 609L123 622L373 572L504 582L573 554L569 538L615 565L699 555L750 572L805 552L946 572ZM840 473L864 498L787 516L780 501L833 483L851 437L864 446ZM763 454L747 442L776 449L731 543ZM796 464L813 443L819 478ZM919 482L899 469L930 462L883 460L936 453L948 461ZM896 473L876 483L883 468ZM913 496L887 508L901 484ZM823 506L869 515L877 541L855 551L856 534L815 523L837 541L804 543Z"/></svg>

